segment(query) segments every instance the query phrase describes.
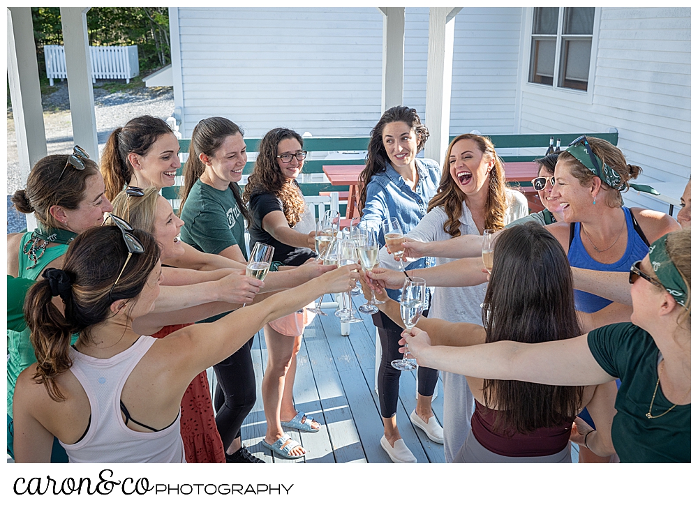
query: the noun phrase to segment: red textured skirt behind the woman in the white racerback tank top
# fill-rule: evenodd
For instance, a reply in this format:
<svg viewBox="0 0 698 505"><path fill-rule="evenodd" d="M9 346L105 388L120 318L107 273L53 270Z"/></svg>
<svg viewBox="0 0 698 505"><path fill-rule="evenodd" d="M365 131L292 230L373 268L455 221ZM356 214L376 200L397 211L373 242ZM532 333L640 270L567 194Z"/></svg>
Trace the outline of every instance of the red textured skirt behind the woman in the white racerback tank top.
<svg viewBox="0 0 698 505"><path fill-rule="evenodd" d="M163 338L185 326L189 325L165 326L153 336ZM184 456L188 463L225 463L225 448L216 428L216 416L209 391L209 379L204 371L194 377L181 398L180 430L184 441Z"/></svg>

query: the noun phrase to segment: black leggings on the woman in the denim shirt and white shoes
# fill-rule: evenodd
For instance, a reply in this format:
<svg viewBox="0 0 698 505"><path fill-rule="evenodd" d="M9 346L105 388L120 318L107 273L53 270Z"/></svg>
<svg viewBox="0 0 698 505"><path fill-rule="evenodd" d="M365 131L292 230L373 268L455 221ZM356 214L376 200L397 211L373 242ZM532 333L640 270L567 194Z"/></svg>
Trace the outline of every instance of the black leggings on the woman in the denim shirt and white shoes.
<svg viewBox="0 0 698 505"><path fill-rule="evenodd" d="M428 309L424 310L424 316L428 312ZM383 312L373 314L373 324L378 328L380 347L383 349L383 355L380 357L380 366L378 367L380 415L390 418L397 412L397 398L400 391L400 370L393 368L390 362L402 357L399 351L400 345L397 342L401 338L400 334L403 332L403 329L392 322ZM434 389L436 389L436 381L438 380L438 370L420 366L417 370L417 377L419 378L419 394L422 396L433 395Z"/></svg>

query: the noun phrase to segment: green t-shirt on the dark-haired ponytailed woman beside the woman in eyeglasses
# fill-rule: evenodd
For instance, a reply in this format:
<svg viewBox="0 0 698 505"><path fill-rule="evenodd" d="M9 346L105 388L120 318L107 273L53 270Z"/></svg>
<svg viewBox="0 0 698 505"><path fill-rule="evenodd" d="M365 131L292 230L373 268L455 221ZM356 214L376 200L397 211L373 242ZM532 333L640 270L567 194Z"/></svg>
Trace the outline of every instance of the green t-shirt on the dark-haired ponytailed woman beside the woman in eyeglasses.
<svg viewBox="0 0 698 505"><path fill-rule="evenodd" d="M196 181L184 202L181 219L181 239L190 246L217 255L237 244L247 258L245 220L232 189L221 191Z"/></svg>

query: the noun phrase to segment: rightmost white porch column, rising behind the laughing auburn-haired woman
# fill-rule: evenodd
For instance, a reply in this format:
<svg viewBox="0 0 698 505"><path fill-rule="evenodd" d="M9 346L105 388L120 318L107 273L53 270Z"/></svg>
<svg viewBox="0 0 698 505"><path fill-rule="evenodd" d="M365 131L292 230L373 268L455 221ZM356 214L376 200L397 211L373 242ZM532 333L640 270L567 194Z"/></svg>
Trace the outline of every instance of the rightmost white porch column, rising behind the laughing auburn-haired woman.
<svg viewBox="0 0 698 505"><path fill-rule="evenodd" d="M426 61L426 112L429 141L424 156L443 163L451 119L451 77L455 17L461 7L429 8L429 52Z"/></svg>

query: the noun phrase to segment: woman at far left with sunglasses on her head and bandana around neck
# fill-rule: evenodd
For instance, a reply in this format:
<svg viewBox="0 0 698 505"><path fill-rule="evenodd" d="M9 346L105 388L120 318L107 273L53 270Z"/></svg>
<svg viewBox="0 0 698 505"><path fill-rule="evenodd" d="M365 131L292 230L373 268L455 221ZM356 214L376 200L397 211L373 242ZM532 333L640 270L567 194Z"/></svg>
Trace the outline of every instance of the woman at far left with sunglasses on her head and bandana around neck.
<svg viewBox="0 0 698 505"><path fill-rule="evenodd" d="M68 244L77 234L103 223L112 205L105 197L102 175L94 161L80 147L71 155L41 158L29 172L27 187L12 197L15 208L34 213L33 232L7 237L7 273L36 280L46 268L60 268ZM8 293L8 296L14 296ZM17 294L20 296L20 294ZM8 454L13 455L13 393L20 372L36 361L29 342L29 329L8 329L7 421ZM65 451L56 444L54 461L66 461Z"/></svg>

